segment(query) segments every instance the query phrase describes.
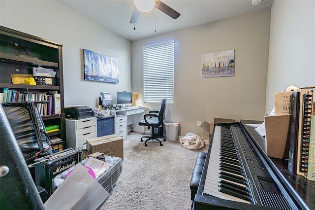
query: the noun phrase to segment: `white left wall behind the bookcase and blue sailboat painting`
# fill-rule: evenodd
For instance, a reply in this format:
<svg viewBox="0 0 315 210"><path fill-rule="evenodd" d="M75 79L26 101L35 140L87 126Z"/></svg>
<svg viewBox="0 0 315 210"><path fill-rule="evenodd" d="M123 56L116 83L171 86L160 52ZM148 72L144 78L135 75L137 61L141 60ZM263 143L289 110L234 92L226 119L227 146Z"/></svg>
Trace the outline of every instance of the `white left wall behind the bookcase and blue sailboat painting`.
<svg viewBox="0 0 315 210"><path fill-rule="evenodd" d="M64 105L98 105L101 91L131 91L131 42L54 0L0 1L0 25L63 44ZM119 84L84 80L83 49L118 59Z"/></svg>

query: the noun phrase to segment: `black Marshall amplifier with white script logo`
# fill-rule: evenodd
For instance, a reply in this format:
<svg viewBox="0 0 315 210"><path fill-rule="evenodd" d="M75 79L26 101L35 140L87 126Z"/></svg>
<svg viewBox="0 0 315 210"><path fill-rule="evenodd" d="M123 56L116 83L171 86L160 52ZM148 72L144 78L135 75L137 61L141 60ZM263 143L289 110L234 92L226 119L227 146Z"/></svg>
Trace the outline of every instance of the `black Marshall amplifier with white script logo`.
<svg viewBox="0 0 315 210"><path fill-rule="evenodd" d="M43 187L51 196L57 189L54 177L78 164L82 160L82 149L72 149L34 164L35 184Z"/></svg>

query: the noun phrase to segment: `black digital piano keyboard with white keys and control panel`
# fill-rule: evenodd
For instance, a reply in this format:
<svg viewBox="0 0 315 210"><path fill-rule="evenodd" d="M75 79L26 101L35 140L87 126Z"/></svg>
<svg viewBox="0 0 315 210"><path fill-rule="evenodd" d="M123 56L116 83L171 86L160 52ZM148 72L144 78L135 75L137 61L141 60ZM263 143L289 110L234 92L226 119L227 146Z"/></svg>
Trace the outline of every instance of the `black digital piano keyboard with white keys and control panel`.
<svg viewBox="0 0 315 210"><path fill-rule="evenodd" d="M238 123L215 125L193 209L297 209Z"/></svg>

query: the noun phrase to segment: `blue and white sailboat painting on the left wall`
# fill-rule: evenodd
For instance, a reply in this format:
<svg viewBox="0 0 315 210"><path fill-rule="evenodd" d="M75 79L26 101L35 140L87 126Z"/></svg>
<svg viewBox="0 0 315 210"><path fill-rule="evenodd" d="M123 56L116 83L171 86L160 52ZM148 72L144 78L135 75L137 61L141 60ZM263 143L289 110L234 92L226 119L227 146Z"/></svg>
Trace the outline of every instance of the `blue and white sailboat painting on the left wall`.
<svg viewBox="0 0 315 210"><path fill-rule="evenodd" d="M119 83L118 60L84 49L84 80Z"/></svg>

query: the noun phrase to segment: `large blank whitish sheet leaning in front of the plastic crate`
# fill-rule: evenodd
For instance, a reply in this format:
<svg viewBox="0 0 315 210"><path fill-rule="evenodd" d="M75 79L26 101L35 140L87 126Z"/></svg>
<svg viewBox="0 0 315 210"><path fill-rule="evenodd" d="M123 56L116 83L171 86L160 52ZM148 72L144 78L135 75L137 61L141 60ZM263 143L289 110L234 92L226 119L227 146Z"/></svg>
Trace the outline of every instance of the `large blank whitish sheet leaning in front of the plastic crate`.
<svg viewBox="0 0 315 210"><path fill-rule="evenodd" d="M77 164L63 183L45 202L46 210L95 210L109 193L88 172Z"/></svg>

